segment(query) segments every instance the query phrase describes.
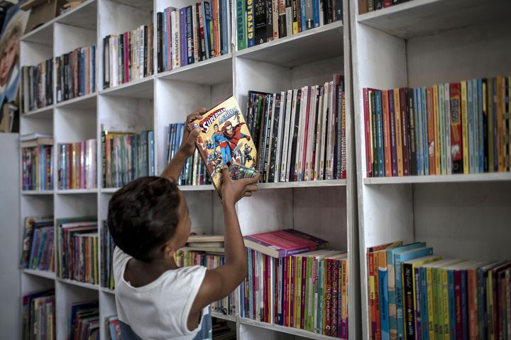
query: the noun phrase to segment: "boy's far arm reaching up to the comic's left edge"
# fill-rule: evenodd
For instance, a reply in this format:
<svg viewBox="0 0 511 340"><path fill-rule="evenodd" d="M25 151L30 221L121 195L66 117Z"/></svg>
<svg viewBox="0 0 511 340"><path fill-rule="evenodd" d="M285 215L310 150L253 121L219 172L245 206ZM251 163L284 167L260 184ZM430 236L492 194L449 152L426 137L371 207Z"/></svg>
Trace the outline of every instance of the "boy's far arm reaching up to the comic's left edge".
<svg viewBox="0 0 511 340"><path fill-rule="evenodd" d="M205 112L207 112L207 108L201 108L187 116L185 132L183 133L180 148L177 150L174 158L170 159L170 163L165 170L163 170L160 177L164 177L169 181L177 181L188 157L192 156L194 153L195 140L197 140L197 136L199 135L199 129L189 132L187 126L189 123L192 123L193 120L202 118L202 114Z"/></svg>

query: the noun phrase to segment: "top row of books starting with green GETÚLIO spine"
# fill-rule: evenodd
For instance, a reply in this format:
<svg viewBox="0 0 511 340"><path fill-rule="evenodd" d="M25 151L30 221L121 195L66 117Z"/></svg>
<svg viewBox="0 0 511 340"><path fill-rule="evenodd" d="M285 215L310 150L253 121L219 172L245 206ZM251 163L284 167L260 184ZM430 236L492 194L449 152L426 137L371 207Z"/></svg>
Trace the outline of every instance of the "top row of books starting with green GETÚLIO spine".
<svg viewBox="0 0 511 340"><path fill-rule="evenodd" d="M237 4L238 51L343 20L341 0L248 0Z"/></svg>

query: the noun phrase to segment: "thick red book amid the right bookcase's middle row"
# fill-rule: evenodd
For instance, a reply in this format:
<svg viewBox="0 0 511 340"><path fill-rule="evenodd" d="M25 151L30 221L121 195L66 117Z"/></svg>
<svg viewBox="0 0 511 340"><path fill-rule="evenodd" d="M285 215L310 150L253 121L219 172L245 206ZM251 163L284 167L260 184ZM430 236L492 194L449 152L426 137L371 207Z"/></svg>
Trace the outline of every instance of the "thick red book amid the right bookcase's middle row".
<svg viewBox="0 0 511 340"><path fill-rule="evenodd" d="M461 139L461 85L449 84L451 97L451 159L453 174L463 173L463 142Z"/></svg>

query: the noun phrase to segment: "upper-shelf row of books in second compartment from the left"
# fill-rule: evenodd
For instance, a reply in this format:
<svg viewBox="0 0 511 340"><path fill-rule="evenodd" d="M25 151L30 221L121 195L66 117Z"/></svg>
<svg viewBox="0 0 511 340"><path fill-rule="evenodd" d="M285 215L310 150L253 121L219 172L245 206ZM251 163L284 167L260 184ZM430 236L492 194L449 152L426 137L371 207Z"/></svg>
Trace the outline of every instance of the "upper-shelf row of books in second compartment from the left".
<svg viewBox="0 0 511 340"><path fill-rule="evenodd" d="M96 91L96 46L55 57L57 103Z"/></svg>

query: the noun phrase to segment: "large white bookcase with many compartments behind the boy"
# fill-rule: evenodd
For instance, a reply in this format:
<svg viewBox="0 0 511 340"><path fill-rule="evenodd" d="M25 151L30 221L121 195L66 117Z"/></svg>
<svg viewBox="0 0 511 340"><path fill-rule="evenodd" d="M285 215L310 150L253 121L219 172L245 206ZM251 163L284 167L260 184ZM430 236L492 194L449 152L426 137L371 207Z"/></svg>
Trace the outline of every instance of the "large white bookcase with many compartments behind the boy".
<svg viewBox="0 0 511 340"><path fill-rule="evenodd" d="M103 88L104 36L153 23L155 13L167 6L179 8L192 3L192 0L87 0L64 16L23 36L22 65L37 64L76 47L97 46L97 91L61 103L54 100L55 104L48 108L22 113L21 133L53 133L54 169L57 169L57 144L96 138L99 183L94 189L60 190L54 171L54 191L22 191L22 223L31 215L53 214L55 219L92 215L97 216L99 228L102 227L109 200L119 188L101 188L101 128L134 132L154 130L155 166L156 173L160 174L165 168L168 125L184 122L192 111L214 106L234 94L245 113L248 90L280 92L305 85L322 85L332 79L332 74L344 74L348 179L264 183L253 198L242 200L237 208L244 234L292 227L328 239L331 249L348 251L349 338L359 339L359 254L348 0L344 1L344 23L332 23L240 52L236 45L231 45L227 55L160 74L155 69L153 75L144 79ZM235 21L233 30L236 30ZM154 64L156 66L156 62ZM221 203L213 186L181 188L192 215L192 231L223 233ZM67 338L67 322L73 302L99 300L102 325L105 317L116 314L114 290L61 279L55 273L23 271L23 294L50 287L55 288L57 300L57 339ZM234 322L239 339L261 339L261 336L267 339L329 339L308 331L253 322L238 315L213 316ZM101 339L106 339L103 326L100 335Z"/></svg>

